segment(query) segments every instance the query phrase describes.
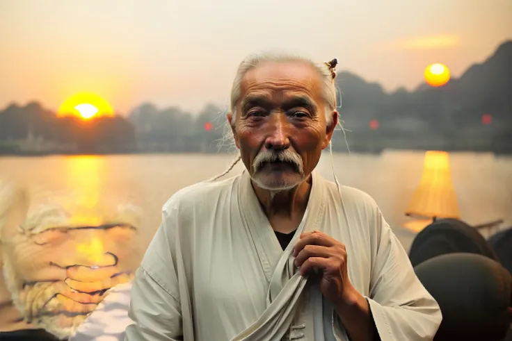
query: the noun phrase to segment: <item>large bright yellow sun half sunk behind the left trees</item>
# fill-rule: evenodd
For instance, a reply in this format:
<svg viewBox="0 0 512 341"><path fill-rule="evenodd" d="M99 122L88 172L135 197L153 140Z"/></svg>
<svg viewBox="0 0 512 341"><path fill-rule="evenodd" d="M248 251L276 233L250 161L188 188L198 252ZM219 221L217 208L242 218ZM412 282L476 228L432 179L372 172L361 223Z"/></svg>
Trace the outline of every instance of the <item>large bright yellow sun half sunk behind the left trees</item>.
<svg viewBox="0 0 512 341"><path fill-rule="evenodd" d="M66 99L58 109L58 116L78 116L83 119L113 115L113 109L109 102L97 94L89 92L74 94Z"/></svg>

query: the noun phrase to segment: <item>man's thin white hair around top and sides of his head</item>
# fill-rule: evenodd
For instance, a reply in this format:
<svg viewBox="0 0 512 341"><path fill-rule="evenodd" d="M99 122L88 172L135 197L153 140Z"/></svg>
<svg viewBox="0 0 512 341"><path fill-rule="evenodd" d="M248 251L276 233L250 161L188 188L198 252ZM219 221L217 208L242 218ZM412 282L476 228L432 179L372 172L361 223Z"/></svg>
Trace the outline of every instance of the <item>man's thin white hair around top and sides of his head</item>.
<svg viewBox="0 0 512 341"><path fill-rule="evenodd" d="M309 58L295 55L293 53L280 53L280 52L264 52L252 53L242 60L240 63L237 74L234 76L234 81L231 89L230 99L230 112L232 113L231 124L234 124L235 117L237 116L237 103L241 97L240 85L243 77L247 72L254 69L258 65L266 62L272 63L304 63L310 65L317 70L321 76L323 89L322 97L326 102L326 122L329 126L333 122L333 111L336 110L336 87L334 83L333 70L331 70L326 63L314 63Z"/></svg>

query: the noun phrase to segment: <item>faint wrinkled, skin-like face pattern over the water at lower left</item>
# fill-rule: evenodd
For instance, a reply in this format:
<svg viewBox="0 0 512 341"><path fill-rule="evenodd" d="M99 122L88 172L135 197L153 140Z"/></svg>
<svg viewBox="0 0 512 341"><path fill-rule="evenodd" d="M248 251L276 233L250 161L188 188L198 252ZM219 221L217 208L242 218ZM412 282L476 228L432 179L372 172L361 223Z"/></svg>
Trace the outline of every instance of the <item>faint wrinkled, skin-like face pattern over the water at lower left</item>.
<svg viewBox="0 0 512 341"><path fill-rule="evenodd" d="M3 245L3 272L28 322L60 338L131 279L135 229L125 225L20 230Z"/></svg>

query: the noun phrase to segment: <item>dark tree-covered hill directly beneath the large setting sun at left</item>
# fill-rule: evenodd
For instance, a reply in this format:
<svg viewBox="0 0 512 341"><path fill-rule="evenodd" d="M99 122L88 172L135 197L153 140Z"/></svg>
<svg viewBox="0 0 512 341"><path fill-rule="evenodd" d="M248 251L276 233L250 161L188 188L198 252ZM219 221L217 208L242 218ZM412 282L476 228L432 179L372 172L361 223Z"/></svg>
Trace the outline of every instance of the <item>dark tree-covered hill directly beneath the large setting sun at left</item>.
<svg viewBox="0 0 512 341"><path fill-rule="evenodd" d="M0 112L0 153L115 153L136 151L134 126L124 117L57 117L38 102Z"/></svg>

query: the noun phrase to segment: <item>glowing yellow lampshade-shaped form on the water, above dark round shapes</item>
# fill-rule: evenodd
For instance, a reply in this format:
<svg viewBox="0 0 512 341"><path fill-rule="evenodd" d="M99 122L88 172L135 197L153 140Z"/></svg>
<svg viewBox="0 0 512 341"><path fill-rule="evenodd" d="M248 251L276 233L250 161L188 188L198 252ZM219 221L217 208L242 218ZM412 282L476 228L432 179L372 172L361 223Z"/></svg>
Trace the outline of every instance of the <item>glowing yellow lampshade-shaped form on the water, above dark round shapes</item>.
<svg viewBox="0 0 512 341"><path fill-rule="evenodd" d="M427 219L461 218L446 151L425 153L422 178L406 215Z"/></svg>

